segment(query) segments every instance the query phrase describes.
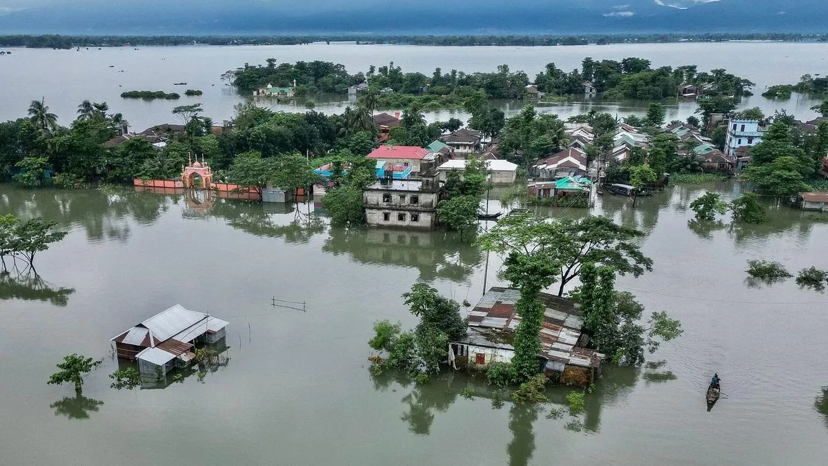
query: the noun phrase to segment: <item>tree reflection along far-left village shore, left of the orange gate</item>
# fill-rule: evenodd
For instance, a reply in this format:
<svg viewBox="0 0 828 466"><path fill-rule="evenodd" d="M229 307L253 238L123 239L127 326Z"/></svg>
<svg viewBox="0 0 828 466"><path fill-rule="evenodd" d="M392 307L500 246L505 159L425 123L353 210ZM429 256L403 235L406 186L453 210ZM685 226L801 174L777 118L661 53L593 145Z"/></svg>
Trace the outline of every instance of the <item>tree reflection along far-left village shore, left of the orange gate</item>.
<svg viewBox="0 0 828 466"><path fill-rule="evenodd" d="M171 205L171 197L135 192L128 187L99 189L22 189L6 185L0 211L30 218L42 216L63 227L83 226L89 240L125 241L128 217L139 224L156 221Z"/></svg>

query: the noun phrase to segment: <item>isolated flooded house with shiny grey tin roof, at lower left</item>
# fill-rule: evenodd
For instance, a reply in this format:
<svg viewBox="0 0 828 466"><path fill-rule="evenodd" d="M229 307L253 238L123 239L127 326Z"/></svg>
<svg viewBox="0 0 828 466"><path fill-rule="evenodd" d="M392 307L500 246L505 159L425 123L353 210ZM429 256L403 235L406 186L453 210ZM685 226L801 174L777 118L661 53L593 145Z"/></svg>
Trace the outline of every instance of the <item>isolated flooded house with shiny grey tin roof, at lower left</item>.
<svg viewBox="0 0 828 466"><path fill-rule="evenodd" d="M228 322L209 314L190 311L181 304L157 313L113 337L118 357L138 362L142 376L166 374L189 366L195 358L195 343L224 339Z"/></svg>

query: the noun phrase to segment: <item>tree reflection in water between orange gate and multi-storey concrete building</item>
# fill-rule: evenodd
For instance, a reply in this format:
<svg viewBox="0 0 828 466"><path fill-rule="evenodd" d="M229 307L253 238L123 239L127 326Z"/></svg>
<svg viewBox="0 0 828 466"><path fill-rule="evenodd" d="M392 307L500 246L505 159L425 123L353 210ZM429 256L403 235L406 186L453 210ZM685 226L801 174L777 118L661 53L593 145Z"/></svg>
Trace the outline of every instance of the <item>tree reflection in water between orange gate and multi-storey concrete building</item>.
<svg viewBox="0 0 828 466"><path fill-rule="evenodd" d="M314 235L325 231L325 221L313 212L302 211L300 207L292 203L253 204L216 199L209 214L251 235L284 238L289 243L306 243Z"/></svg>

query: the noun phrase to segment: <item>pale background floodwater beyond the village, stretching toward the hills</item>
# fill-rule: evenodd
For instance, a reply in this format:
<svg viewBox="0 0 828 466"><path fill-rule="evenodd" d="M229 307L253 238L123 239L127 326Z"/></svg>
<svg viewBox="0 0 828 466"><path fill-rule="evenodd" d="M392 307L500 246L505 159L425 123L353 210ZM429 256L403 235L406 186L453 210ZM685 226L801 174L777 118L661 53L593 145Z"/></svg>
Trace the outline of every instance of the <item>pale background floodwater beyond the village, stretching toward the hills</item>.
<svg viewBox="0 0 828 466"><path fill-rule="evenodd" d="M700 71L725 68L756 83L753 95L740 108L758 106L765 114L786 109L800 119L811 119L815 104L809 98L794 95L791 100L768 100L763 90L769 85L796 83L805 74L828 73L828 44L792 42L726 42L617 44L609 46L551 47L442 47L442 46L374 46L353 43L315 43L302 46L177 46L177 47L96 47L72 50L12 48L12 55L0 57L0 121L26 115L31 100L44 98L60 124L75 118L77 105L83 100L103 101L141 131L161 123L175 123L171 114L176 105L201 103L205 115L220 123L233 116L233 105L245 99L237 90L220 80L227 70L245 63L264 64L270 57L280 62L333 61L342 63L349 72L367 71L368 66L393 62L403 71L431 75L439 66L472 73L493 71L507 64L511 70L524 70L533 80L546 63L555 62L562 70L580 68L585 56L596 60L620 60L640 56L652 66L696 64ZM176 86L174 83L187 85ZM185 89L199 89L204 95L187 97ZM180 100L122 99L125 90L164 90L178 92ZM341 113L349 104L342 95L318 95L310 98L315 108L325 113ZM273 109L305 112L305 100L293 104L262 104ZM522 102L498 102L507 115L516 113ZM544 104L541 111L563 117L590 110L619 116L643 115L647 102L601 102L578 100L564 104ZM686 119L696 111L695 102L666 103L667 120ZM451 117L467 119L462 111L439 111L426 114L430 121Z"/></svg>

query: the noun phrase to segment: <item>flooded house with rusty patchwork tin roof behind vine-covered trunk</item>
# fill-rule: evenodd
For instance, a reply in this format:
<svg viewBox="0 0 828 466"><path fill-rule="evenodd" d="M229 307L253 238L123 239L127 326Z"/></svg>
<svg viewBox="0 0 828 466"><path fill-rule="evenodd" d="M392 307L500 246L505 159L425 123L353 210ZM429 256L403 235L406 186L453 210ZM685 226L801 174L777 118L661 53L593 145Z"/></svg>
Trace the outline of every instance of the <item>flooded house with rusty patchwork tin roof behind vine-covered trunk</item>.
<svg viewBox="0 0 828 466"><path fill-rule="evenodd" d="M455 367L484 368L492 362L511 362L514 331L521 322L514 305L520 291L493 287L484 294L466 318L469 331L459 341L449 342L449 360ZM587 386L600 375L603 354L586 347L590 336L583 333L584 320L577 304L542 293L545 305L540 333L538 369L561 383Z"/></svg>

